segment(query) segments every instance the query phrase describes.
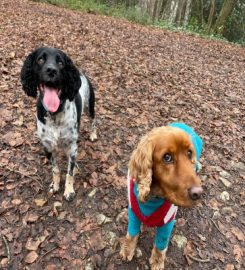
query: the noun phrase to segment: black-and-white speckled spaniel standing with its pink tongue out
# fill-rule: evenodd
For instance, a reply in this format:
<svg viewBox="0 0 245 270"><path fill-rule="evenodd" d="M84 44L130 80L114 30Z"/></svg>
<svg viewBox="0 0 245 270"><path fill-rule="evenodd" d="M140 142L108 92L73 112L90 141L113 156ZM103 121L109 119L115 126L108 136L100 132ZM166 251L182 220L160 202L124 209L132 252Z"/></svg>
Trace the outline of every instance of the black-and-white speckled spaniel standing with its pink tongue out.
<svg viewBox="0 0 245 270"><path fill-rule="evenodd" d="M66 200L72 200L75 196L73 177L77 139L83 112L91 118L90 139L97 138L92 84L64 52L49 47L38 48L27 56L21 70L21 82L28 96L38 96L37 133L53 168L50 192L59 190L60 170L55 155L63 148L69 159L64 196Z"/></svg>

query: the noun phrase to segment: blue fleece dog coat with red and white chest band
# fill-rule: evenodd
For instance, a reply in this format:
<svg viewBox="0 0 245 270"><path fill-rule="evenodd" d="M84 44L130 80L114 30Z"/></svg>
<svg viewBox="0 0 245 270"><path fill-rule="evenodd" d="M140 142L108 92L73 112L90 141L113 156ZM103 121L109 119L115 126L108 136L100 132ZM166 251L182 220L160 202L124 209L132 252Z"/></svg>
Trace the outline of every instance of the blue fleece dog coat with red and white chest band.
<svg viewBox="0 0 245 270"><path fill-rule="evenodd" d="M202 139L189 126L183 123L172 123L172 127L184 130L191 138L196 151L197 160L202 152ZM197 165L196 165L197 167ZM168 242L174 227L177 206L171 204L164 198L151 198L145 203L138 199L138 186L134 179L128 176L128 233L136 236L140 232L141 223L146 226L156 226L155 246L158 250L163 250L168 246ZM160 210L160 211L159 211ZM154 219L154 220L151 220Z"/></svg>

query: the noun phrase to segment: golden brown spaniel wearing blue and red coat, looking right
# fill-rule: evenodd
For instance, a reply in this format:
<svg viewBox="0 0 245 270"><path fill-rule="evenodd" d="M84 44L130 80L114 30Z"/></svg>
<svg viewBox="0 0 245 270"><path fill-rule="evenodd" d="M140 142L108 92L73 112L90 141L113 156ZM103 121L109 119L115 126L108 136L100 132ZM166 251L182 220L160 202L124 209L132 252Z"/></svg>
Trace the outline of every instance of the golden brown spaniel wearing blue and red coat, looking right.
<svg viewBox="0 0 245 270"><path fill-rule="evenodd" d="M141 222L144 224L144 221L146 223L149 221L147 221L147 217L144 219L144 215L136 212L144 212L142 209L147 203L155 203L158 200L169 203L168 212L165 213L168 215L167 221L160 225L163 230L159 229L159 235L160 233L167 235L157 236L159 239L155 241L150 257L152 270L164 269L167 245L177 211L176 206L193 206L203 191L196 173L197 154L199 158L202 141L191 128L184 124L181 125L191 131L186 132L186 130L172 126L153 129L140 140L129 162L129 227L120 252L124 260L130 261L133 258L140 230L138 227ZM199 146L196 144L197 138ZM132 193L135 194L132 195ZM136 196L137 202L133 202L131 196ZM137 211L133 209L135 207L133 204L139 205ZM143 220L138 215L142 215ZM132 225L130 222L137 224ZM155 226L151 221L148 224L151 224L149 226L152 227ZM158 225L156 226L158 227ZM164 226L168 228L164 229ZM161 241L166 243L162 246ZM161 248L158 248L158 245Z"/></svg>

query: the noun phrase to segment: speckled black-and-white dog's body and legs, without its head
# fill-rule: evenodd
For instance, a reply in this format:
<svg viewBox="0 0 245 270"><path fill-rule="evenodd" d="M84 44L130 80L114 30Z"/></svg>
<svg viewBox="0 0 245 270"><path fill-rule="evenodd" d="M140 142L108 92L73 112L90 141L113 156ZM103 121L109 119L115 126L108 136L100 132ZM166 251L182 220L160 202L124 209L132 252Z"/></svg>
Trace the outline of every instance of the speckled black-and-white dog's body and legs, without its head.
<svg viewBox="0 0 245 270"><path fill-rule="evenodd" d="M46 155L53 166L53 183L50 185L50 192L59 190L60 171L55 160L57 151L63 149L69 159L68 175L74 175L74 167L77 156L77 139L80 127L80 118L83 113L89 114L92 119L92 130L90 139L97 138L94 120L94 92L91 83L86 76L81 75L82 85L79 93L73 101L66 100L62 104L62 110L56 114L51 114L45 110L39 99L37 107L37 134L44 146ZM67 181L66 181L67 182ZM75 195L73 184L66 183L64 196L71 200Z"/></svg>

